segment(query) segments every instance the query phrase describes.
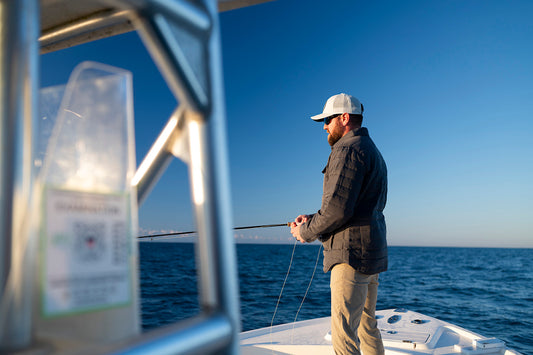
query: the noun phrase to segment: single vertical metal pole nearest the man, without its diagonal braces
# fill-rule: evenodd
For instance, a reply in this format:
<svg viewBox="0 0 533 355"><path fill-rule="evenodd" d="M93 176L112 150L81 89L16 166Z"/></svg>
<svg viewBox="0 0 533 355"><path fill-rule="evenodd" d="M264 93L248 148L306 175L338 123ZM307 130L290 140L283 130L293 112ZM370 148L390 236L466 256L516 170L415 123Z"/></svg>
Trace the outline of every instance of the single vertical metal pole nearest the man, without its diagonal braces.
<svg viewBox="0 0 533 355"><path fill-rule="evenodd" d="M209 297L216 293L217 308L226 314L233 325L227 354L239 354L240 305L237 255L233 240L233 216L229 184L228 153L222 49L218 23L217 2L206 1L211 15L212 30L207 40L207 77L211 110L203 122L198 122L201 145L194 147L193 132L189 130L192 174L191 187L198 225L198 259L202 307L209 307ZM191 122L190 125L194 125ZM195 155L200 159L195 160ZM196 165L196 166L195 166ZM198 169L195 171L195 169ZM210 174L209 174L210 173ZM201 182L197 179L201 177ZM202 203L202 196L205 194ZM202 227L205 229L202 231ZM204 265L212 267L204 267ZM211 274L214 273L214 274ZM209 286L208 286L209 284Z"/></svg>

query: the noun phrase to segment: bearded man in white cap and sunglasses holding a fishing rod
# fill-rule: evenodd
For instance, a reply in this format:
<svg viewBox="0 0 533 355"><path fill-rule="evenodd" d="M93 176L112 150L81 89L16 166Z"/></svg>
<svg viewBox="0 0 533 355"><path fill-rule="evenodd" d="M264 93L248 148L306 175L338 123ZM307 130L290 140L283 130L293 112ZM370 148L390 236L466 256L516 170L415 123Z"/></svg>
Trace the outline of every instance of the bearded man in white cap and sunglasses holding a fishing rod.
<svg viewBox="0 0 533 355"><path fill-rule="evenodd" d="M378 274L387 270L387 167L361 127L362 114L359 100L339 94L328 99L322 114L311 117L324 122L331 145L322 206L291 224L300 242L318 238L324 246L336 354L384 354L375 312Z"/></svg>

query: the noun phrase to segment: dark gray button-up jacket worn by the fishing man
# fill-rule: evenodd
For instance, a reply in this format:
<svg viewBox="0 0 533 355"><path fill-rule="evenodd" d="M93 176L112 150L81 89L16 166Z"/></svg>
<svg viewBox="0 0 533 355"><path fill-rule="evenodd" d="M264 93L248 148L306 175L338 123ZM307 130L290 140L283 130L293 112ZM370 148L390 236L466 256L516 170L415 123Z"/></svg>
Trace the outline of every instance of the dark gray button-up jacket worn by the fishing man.
<svg viewBox="0 0 533 355"><path fill-rule="evenodd" d="M348 263L363 274L387 270L387 166L364 127L345 134L323 170L320 210L300 228L324 245L324 272Z"/></svg>

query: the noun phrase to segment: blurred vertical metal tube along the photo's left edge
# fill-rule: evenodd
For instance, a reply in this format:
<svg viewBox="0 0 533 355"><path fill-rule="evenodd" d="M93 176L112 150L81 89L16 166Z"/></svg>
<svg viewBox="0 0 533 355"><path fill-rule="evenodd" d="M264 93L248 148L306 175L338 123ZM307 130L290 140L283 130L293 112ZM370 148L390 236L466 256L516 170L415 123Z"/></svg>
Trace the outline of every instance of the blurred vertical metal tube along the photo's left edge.
<svg viewBox="0 0 533 355"><path fill-rule="evenodd" d="M21 226L30 224L39 23L38 0L0 1L0 352L31 341L33 268Z"/></svg>

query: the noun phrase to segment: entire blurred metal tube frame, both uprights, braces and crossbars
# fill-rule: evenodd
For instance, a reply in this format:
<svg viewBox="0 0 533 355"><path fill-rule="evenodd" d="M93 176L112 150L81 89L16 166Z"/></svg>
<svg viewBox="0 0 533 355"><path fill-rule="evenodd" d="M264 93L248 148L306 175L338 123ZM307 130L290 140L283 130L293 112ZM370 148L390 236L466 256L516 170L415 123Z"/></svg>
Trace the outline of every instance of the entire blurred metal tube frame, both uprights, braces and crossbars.
<svg viewBox="0 0 533 355"><path fill-rule="evenodd" d="M239 353L239 292L236 252L231 225L229 173L225 137L225 107L221 65L220 32L217 2L168 2L162 0L108 0L126 12L110 12L109 17L86 19L76 24L56 28L41 37L44 49L85 35L92 30L124 23L124 16L133 20L145 41L145 45L159 65L163 76L183 106L183 112L169 120L184 119L184 127L190 140L190 178L192 200L198 227L198 287L201 314L197 318L169 328L170 333L147 333L124 351L138 353ZM0 80L0 292L4 290L9 273L13 232L12 211L19 185L28 181L31 159L21 152L32 146L32 138L26 134L18 137L13 132L19 126L29 126L37 110L38 89L38 0L0 0L10 15L2 19L0 46L2 51ZM28 9L34 11L28 11ZM5 21L4 21L5 20ZM36 28L32 27L36 26ZM19 26L19 27L17 27ZM21 29L20 26L26 26ZM28 27L29 26L29 27ZM202 69L207 83L195 77L190 63L171 31L172 26L189 30L202 46L205 59ZM28 31L28 28L31 30ZM9 33L2 32L8 30ZM16 30L13 32L13 30ZM20 32L18 32L20 31ZM16 33L13 36L13 33ZM29 36L29 38L25 37ZM52 47L50 47L52 48ZM21 50L22 49L22 50ZM23 66L18 64L23 63ZM28 108L30 108L28 110ZM30 111L30 112L28 112ZM178 112L177 110L176 112ZM181 112L181 111L179 111ZM176 117L174 117L176 116ZM168 128L168 137L160 136L161 147L153 148L154 156L147 157L145 172L138 172L140 200L162 174L169 162L171 142L182 131L176 124ZM28 132L26 129L25 132ZM165 130L163 130L165 132ZM14 138L15 137L15 138ZM157 143L157 142L156 142ZM151 150L152 151L152 150ZM30 156L32 156L30 154ZM143 162L144 163L144 162ZM18 169L21 169L19 171ZM137 174L136 174L137 175ZM22 177L21 177L22 176ZM32 181L32 178L29 179ZM22 189L24 190L24 189ZM26 188L28 190L28 188ZM24 195L24 194L23 194ZM0 293L1 295L1 293ZM5 319L5 315L2 315ZM16 320L12 320L16 322ZM11 319L10 319L11 322ZM12 326L14 323L10 323ZM31 334L31 324L23 332ZM157 332L157 331L156 331ZM4 339L0 338L4 344ZM204 339L191 341L191 339ZM19 342L20 343L20 342ZM23 339L23 345L29 345ZM120 350L118 350L120 353Z"/></svg>

